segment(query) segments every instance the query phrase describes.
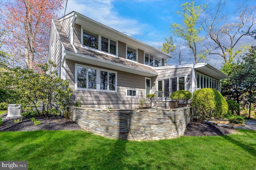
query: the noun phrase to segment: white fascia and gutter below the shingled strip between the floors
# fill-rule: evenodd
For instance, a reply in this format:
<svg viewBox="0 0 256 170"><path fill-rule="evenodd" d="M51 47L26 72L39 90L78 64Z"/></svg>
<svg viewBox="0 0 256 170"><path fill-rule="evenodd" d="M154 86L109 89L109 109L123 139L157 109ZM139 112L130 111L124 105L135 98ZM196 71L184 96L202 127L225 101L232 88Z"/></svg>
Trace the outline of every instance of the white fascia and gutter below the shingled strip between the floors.
<svg viewBox="0 0 256 170"><path fill-rule="evenodd" d="M148 72L148 71L140 70L140 69L137 69L137 68L132 68L132 67L129 67L129 66L124 66L124 65L121 65L121 64L117 64L117 63L112 63L110 61L96 59L96 58L93 58L93 57L90 57L90 56L81 55L81 54L70 52L70 51L64 51L64 53L66 53L66 59L79 61L79 62L82 62L82 63L88 63L88 64L93 64L93 65L96 65L96 66L112 68L112 69L115 69L115 70L130 72L130 73L139 74L139 75L142 75L142 76L149 76L149 77L158 76L157 73Z"/></svg>

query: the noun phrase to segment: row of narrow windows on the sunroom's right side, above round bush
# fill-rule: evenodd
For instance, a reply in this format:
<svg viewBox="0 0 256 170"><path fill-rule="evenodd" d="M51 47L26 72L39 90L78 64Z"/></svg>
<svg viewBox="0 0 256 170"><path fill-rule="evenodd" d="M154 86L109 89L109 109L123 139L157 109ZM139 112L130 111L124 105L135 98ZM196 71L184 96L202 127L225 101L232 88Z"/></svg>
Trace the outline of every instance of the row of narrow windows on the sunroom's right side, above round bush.
<svg viewBox="0 0 256 170"><path fill-rule="evenodd" d="M219 90L219 81L203 74L196 74L197 88L213 88Z"/></svg>

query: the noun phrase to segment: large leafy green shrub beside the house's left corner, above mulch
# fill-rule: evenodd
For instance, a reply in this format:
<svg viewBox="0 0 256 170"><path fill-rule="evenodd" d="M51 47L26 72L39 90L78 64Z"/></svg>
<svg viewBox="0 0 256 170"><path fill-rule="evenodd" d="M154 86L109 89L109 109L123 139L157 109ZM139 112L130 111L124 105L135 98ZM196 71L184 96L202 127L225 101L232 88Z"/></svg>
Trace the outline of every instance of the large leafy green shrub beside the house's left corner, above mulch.
<svg viewBox="0 0 256 170"><path fill-rule="evenodd" d="M52 62L49 62L53 64ZM48 71L50 64L40 65L44 72ZM54 65L54 64L53 64ZM56 66L56 65L54 65ZM43 113L48 115L53 104L61 111L70 103L72 90L67 80L62 80L56 71L49 74L34 72L29 68L12 68L8 72L0 74L1 87L5 90L13 90L18 96L15 102L22 106L32 106L39 114L38 108L43 105Z"/></svg>

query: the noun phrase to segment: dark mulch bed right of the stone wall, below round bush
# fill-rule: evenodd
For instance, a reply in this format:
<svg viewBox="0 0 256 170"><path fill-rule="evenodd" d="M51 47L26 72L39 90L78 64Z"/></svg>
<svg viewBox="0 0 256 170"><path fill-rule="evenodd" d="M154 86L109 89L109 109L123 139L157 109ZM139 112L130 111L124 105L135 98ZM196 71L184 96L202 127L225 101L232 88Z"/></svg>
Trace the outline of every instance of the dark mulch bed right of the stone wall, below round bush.
<svg viewBox="0 0 256 170"><path fill-rule="evenodd" d="M184 136L220 136L238 133L231 127L220 127L212 124L189 123L184 132Z"/></svg>

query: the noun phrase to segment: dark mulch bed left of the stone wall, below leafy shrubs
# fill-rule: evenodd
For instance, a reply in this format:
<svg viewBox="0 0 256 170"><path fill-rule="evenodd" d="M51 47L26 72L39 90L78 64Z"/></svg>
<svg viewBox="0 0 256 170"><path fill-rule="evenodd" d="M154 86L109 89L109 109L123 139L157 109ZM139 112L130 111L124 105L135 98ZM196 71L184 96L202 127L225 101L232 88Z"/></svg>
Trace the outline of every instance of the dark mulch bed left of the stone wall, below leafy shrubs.
<svg viewBox="0 0 256 170"><path fill-rule="evenodd" d="M14 119L6 119L0 126L0 131L38 131L38 130L79 130L81 127L76 122L66 123L64 117L36 117L40 125L34 125L30 118L22 118L22 121L14 123Z"/></svg>

